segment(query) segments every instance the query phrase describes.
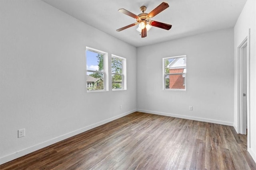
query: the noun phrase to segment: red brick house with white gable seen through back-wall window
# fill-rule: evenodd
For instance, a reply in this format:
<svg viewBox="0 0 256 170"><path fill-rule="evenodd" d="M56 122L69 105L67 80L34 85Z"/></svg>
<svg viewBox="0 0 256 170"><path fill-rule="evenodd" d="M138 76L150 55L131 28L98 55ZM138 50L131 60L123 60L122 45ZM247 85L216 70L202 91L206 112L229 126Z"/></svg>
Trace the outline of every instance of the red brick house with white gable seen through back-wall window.
<svg viewBox="0 0 256 170"><path fill-rule="evenodd" d="M169 68L170 73L185 73L185 74L172 74L169 76L171 89L185 89L185 76L186 76L186 57L176 58L166 66Z"/></svg>

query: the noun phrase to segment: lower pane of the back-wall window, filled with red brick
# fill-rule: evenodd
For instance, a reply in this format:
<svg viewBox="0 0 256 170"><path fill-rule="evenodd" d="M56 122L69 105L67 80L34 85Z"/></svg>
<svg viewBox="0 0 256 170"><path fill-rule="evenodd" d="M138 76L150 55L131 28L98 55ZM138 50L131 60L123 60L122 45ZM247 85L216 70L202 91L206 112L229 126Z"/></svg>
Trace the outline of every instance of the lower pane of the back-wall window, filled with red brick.
<svg viewBox="0 0 256 170"><path fill-rule="evenodd" d="M169 81L168 82L169 89L185 89L186 74L171 74L168 76L169 76L169 78L166 79L166 83L167 83L167 81ZM168 86L168 84L167 84L167 86Z"/></svg>

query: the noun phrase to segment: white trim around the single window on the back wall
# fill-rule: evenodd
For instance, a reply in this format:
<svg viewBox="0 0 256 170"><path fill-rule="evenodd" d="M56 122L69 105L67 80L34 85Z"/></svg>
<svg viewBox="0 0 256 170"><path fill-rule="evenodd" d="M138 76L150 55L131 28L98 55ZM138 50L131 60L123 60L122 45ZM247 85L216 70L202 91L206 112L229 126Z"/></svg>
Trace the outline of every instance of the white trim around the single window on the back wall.
<svg viewBox="0 0 256 170"><path fill-rule="evenodd" d="M165 73L165 62L164 62L164 60L165 59L173 59L173 58L175 58L175 59L177 59L177 58L184 58L184 57L186 57L187 58L187 56L186 55L180 55L180 56L175 56L175 57L166 57L166 58L163 58L163 60L162 60L162 64L163 64L163 80L162 80L162 82L163 82L163 90L171 90L171 91L186 91L186 88L187 88L187 85L186 85L186 83L187 83L187 74L186 74L186 72L187 72L187 65L186 65L186 72L183 72L183 73L174 73L174 74L185 74L185 84L183 85L183 86L185 86L185 88L184 89L178 89L178 88L165 88L165 75L166 75L166 73ZM171 75L171 74L169 74L169 75Z"/></svg>

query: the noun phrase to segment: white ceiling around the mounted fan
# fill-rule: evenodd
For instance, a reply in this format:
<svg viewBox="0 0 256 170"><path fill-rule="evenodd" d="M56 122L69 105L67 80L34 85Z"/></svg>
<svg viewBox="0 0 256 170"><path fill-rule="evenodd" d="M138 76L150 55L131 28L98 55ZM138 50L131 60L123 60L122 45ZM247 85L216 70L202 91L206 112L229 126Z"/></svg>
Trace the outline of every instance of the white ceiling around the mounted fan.
<svg viewBox="0 0 256 170"><path fill-rule="evenodd" d="M196 35L199 33L234 27L246 0L43 0L70 16L91 25L135 47L151 45ZM135 23L130 16L118 12L124 8L136 15L140 6L146 13L162 2L169 8L152 20L172 25L170 30L152 27L147 37L141 38L137 26L117 32L116 29Z"/></svg>

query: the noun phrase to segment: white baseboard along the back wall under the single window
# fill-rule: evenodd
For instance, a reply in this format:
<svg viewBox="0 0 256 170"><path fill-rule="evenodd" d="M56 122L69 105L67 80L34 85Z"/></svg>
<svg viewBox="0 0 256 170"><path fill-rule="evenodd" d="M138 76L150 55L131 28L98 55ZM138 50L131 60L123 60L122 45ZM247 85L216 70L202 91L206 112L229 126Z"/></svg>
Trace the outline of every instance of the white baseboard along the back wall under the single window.
<svg viewBox="0 0 256 170"><path fill-rule="evenodd" d="M137 109L137 111L144 112L144 113L152 113L152 114L156 114L156 115L177 117L177 118L182 118L182 119L190 119L190 120L196 120L196 121L204 121L204 122L209 122L209 123L216 123L216 124L220 124L220 125L228 125L228 126L233 126L234 125L233 122L219 121L219 120L214 120L214 119L205 119L205 118L201 118L201 117L177 115L177 114L172 114L172 113L163 113L163 112L159 112L159 111L150 111L150 110L143 110L143 109Z"/></svg>

